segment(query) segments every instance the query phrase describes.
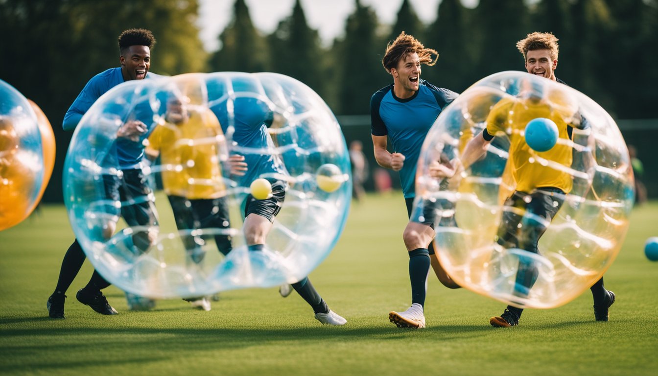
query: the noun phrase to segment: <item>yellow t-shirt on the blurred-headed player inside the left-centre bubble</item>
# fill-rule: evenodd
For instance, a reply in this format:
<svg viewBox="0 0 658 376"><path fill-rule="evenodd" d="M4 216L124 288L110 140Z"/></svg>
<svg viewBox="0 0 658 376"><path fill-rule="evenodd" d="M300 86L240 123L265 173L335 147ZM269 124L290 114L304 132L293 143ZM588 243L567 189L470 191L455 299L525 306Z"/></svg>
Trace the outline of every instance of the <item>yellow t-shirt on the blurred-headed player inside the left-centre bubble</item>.
<svg viewBox="0 0 658 376"><path fill-rule="evenodd" d="M147 148L160 152L164 192L189 199L224 196L222 138L222 128L210 110L190 111L189 119L178 124L159 124Z"/></svg>

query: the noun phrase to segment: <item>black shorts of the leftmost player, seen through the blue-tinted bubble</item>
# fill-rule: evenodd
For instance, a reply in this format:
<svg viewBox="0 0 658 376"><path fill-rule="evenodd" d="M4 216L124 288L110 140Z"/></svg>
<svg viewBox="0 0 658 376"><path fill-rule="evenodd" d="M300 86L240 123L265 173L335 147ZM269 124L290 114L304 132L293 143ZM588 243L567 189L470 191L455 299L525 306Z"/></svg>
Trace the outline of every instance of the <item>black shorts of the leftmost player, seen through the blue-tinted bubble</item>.
<svg viewBox="0 0 658 376"><path fill-rule="evenodd" d="M129 226L157 226L153 191L141 169L122 170L121 176L103 175L105 194L120 207L106 205L105 211L122 215Z"/></svg>

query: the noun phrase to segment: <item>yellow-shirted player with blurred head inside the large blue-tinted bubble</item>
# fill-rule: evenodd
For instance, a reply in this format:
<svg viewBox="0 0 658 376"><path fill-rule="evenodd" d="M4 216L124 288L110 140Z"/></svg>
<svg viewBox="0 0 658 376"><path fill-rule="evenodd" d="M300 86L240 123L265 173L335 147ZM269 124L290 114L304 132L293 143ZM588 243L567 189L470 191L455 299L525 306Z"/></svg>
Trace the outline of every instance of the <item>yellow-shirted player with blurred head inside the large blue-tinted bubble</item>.
<svg viewBox="0 0 658 376"><path fill-rule="evenodd" d="M178 230L230 227L226 187L222 181L219 149L224 143L222 128L210 109L191 106L188 97L170 94L166 99L166 115L149 136L147 157L161 158L164 192L171 204ZM181 235L188 259L200 263L205 237ZM228 234L215 234L222 254L232 249ZM205 297L189 300L191 305L209 311Z"/></svg>

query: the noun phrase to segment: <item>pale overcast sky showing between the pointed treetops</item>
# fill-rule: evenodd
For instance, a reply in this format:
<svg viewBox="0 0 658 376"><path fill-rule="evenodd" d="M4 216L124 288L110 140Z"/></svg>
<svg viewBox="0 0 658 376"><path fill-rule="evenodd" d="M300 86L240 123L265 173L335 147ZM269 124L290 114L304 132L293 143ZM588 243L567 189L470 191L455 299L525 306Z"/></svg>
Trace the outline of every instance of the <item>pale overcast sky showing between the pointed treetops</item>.
<svg viewBox="0 0 658 376"><path fill-rule="evenodd" d="M410 0L420 20L430 23L436 18L440 0ZM235 0L200 0L201 2L201 40L205 49L218 49L217 37L224 30L233 15ZM245 0L254 25L263 32L270 33L276 29L279 21L292 13L295 0ZM476 0L464 0L472 6ZM402 0L361 0L363 5L370 5L377 13L380 22L393 24ZM329 44L345 30L345 20L355 9L355 0L301 0L311 28L318 30L320 38Z"/></svg>

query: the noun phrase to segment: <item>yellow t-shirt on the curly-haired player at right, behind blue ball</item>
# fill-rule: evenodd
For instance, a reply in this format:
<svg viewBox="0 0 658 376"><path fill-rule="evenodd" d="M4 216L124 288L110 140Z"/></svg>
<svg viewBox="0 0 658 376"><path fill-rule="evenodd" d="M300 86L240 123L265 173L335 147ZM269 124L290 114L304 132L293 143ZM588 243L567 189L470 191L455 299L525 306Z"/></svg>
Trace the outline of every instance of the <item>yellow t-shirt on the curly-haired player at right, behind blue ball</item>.
<svg viewBox="0 0 658 376"><path fill-rule="evenodd" d="M571 167L570 146L558 142L550 150L538 152L526 144L523 136L526 124L538 117L551 119L557 125L558 137L569 140L568 125L564 120L569 116L564 109L557 109L545 101L524 98L505 98L496 103L486 120L487 132L492 136L509 136L509 159L505 171L511 171L517 190L532 192L535 188L556 187L569 193L573 185L571 175L550 163L542 165L537 157Z"/></svg>

